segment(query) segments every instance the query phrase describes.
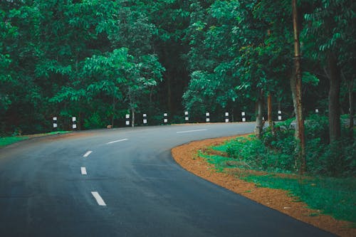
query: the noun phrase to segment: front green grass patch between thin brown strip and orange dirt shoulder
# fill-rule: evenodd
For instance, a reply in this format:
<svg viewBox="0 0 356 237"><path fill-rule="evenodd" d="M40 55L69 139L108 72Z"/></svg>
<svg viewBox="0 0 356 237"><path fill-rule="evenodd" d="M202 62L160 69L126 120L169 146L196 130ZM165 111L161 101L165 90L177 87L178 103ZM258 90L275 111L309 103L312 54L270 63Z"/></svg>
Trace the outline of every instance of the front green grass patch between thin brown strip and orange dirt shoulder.
<svg viewBox="0 0 356 237"><path fill-rule="evenodd" d="M330 214L337 219L356 222L354 178L313 178L287 179L278 175L248 176L244 178L263 187L284 189L305 202L311 209L320 210L320 214Z"/></svg>

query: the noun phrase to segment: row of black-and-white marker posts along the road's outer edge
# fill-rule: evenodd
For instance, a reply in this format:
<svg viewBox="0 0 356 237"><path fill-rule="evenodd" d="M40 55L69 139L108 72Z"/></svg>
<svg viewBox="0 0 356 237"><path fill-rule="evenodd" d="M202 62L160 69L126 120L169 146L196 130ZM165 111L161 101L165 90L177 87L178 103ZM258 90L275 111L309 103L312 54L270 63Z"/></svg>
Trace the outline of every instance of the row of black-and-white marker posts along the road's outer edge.
<svg viewBox="0 0 356 237"><path fill-rule="evenodd" d="M315 113L318 113L319 110L315 109ZM130 114L127 114L126 116L126 120L125 120L125 125L130 126ZM189 121L189 112L185 111L184 112L184 120L185 122ZM278 110L278 120L281 121L282 120L282 111ZM210 122L210 112L206 112L205 113L205 121L206 122ZM225 122L229 122L229 112L225 112ZM241 121L242 122L246 122L246 113L245 112L241 112ZM144 125L147 125L147 114L143 114L142 115L142 122ZM163 123L167 124L168 123L168 114L167 112L165 112L163 114ZM57 129L58 127L58 120L57 117L53 117L53 129ZM72 128L73 130L77 129L77 118L76 117L72 117Z"/></svg>

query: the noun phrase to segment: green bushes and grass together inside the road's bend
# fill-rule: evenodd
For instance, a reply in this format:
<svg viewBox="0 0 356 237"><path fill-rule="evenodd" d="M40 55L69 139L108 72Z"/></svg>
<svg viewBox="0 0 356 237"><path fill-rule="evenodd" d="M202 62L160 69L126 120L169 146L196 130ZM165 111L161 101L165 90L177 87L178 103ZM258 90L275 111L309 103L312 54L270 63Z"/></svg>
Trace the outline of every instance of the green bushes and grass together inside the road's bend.
<svg viewBox="0 0 356 237"><path fill-rule="evenodd" d="M290 191L315 209L315 215L330 214L356 223L356 142L345 129L340 140L329 144L327 123L328 118L321 115L306 119L308 165L303 176L295 164L298 151L292 120L278 123L274 134L266 128L260 139L238 137L199 155L219 172L232 172L257 186Z"/></svg>

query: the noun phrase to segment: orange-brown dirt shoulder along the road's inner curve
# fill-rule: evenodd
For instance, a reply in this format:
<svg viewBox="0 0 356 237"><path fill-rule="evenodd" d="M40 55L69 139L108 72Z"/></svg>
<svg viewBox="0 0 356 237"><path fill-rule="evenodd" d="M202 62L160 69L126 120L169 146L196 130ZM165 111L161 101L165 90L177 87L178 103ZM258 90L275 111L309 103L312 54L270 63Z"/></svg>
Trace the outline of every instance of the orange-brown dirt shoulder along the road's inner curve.
<svg viewBox="0 0 356 237"><path fill-rule="evenodd" d="M288 196L288 191L258 187L255 184L236 178L231 172L216 172L213 165L197 155L199 149L206 149L206 147L221 144L235 137L206 139L184 144L172 149L172 156L187 171L234 191L236 194L246 196L248 199L257 201L271 209L281 211L288 216L325 231L330 231L338 236L356 236L356 228L350 228L352 223L335 220L331 216L321 214L319 210L308 209L307 204Z"/></svg>

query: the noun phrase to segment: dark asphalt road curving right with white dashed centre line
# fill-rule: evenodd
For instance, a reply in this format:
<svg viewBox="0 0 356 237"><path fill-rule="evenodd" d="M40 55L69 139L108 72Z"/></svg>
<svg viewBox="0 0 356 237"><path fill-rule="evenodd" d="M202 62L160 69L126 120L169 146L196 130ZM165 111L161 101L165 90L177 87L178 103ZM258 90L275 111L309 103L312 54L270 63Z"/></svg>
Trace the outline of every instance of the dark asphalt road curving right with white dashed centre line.
<svg viewBox="0 0 356 237"><path fill-rule="evenodd" d="M0 236L333 236L172 159L179 144L253 126L98 130L0 149Z"/></svg>

